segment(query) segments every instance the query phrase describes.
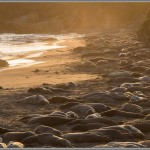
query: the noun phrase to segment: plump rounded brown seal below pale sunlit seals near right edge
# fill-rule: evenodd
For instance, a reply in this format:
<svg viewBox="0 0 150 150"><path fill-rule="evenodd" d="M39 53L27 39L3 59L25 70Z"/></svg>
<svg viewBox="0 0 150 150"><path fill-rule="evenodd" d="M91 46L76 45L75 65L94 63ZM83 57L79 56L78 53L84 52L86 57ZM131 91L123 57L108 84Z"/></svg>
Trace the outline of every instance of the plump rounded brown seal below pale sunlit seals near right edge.
<svg viewBox="0 0 150 150"><path fill-rule="evenodd" d="M121 110L126 112L141 113L143 108L136 104L126 103L122 106Z"/></svg>

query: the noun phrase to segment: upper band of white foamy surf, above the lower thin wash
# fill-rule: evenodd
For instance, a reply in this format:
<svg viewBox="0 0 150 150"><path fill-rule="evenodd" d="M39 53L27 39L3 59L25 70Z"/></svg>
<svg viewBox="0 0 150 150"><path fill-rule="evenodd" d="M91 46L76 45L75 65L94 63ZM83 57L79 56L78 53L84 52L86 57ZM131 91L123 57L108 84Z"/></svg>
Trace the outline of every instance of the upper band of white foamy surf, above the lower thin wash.
<svg viewBox="0 0 150 150"><path fill-rule="evenodd" d="M50 34L0 34L0 57L3 55L22 54L29 51L48 50L59 48L56 45L50 45L52 40L64 40L83 35L71 33L67 35L50 35Z"/></svg>

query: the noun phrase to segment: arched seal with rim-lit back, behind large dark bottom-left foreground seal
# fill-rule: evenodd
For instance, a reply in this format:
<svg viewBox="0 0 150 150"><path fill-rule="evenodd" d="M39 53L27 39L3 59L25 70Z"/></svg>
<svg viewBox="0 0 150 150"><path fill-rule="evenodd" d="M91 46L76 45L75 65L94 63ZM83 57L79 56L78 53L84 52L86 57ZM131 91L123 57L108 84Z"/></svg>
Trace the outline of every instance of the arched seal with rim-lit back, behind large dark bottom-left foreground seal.
<svg viewBox="0 0 150 150"><path fill-rule="evenodd" d="M53 135L61 137L63 133L57 129L54 129L49 126L40 125L37 128L34 129L34 133L36 134L42 134L42 133L51 133Z"/></svg>

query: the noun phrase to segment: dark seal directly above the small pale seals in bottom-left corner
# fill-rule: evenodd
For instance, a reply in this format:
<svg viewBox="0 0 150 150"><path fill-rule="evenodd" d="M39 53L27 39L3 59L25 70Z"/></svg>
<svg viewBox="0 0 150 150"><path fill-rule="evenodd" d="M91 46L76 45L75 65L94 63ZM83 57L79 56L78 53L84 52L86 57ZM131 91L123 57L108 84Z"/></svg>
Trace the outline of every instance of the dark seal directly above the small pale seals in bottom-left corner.
<svg viewBox="0 0 150 150"><path fill-rule="evenodd" d="M23 139L33 136L35 133L28 131L28 132L7 132L3 135L3 140L6 142L15 141L21 142Z"/></svg>

